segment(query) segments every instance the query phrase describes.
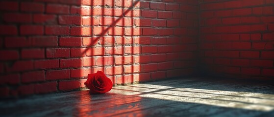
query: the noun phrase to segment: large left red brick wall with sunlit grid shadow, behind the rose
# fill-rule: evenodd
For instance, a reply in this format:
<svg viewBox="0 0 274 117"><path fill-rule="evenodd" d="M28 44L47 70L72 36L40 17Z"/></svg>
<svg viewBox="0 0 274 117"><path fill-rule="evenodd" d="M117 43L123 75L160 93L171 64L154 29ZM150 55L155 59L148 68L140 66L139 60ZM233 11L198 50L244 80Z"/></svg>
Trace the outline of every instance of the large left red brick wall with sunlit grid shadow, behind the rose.
<svg viewBox="0 0 274 117"><path fill-rule="evenodd" d="M0 97L193 74L198 0L1 0Z"/></svg>

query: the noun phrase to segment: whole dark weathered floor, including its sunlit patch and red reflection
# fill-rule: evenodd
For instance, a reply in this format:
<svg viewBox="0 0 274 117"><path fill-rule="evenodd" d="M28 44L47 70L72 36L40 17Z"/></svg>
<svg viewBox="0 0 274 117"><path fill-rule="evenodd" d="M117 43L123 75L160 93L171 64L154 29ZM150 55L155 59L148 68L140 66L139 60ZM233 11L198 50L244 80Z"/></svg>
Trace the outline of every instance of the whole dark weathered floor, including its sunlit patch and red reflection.
<svg viewBox="0 0 274 117"><path fill-rule="evenodd" d="M274 117L274 84L180 78L0 100L3 117Z"/></svg>

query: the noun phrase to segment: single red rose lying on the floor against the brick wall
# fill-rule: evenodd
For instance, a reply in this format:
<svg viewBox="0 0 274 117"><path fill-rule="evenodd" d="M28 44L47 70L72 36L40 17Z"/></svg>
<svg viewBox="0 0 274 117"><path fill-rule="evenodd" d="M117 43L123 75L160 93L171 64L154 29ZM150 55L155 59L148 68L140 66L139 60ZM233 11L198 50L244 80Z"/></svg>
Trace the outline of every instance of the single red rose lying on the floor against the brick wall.
<svg viewBox="0 0 274 117"><path fill-rule="evenodd" d="M87 81L84 83L91 94L103 94L112 89L112 82L105 76L102 71L95 74L89 74Z"/></svg>

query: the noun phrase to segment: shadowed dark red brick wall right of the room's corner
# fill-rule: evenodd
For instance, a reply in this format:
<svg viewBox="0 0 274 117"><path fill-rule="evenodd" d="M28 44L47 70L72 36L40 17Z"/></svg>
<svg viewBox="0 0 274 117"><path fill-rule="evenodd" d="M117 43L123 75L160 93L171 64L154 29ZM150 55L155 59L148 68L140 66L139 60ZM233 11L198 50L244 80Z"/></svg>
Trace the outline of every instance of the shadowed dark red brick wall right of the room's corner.
<svg viewBox="0 0 274 117"><path fill-rule="evenodd" d="M200 0L201 70L274 78L274 0Z"/></svg>

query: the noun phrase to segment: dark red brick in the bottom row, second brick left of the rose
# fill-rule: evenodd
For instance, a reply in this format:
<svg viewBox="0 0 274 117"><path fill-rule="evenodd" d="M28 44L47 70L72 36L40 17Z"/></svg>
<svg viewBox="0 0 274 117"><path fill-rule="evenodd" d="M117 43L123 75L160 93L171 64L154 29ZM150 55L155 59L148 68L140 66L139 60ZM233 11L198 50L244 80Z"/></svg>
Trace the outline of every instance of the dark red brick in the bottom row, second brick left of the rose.
<svg viewBox="0 0 274 117"><path fill-rule="evenodd" d="M57 82L45 82L41 84L35 84L35 93L44 94L57 91Z"/></svg>

